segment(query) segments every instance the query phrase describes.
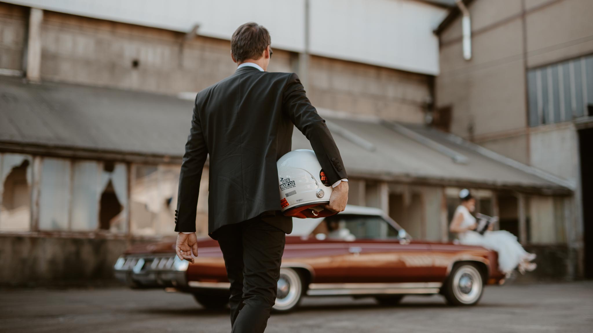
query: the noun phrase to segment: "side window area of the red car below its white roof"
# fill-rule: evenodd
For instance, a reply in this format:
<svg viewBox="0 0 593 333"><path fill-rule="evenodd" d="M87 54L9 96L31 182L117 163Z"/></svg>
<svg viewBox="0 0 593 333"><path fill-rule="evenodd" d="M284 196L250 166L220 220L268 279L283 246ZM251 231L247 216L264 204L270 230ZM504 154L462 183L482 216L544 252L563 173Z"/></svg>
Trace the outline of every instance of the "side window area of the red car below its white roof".
<svg viewBox="0 0 593 333"><path fill-rule="evenodd" d="M318 239L397 239L397 229L381 216L337 214L321 222L313 234Z"/></svg>

